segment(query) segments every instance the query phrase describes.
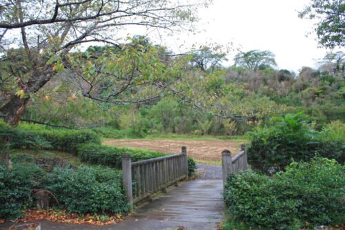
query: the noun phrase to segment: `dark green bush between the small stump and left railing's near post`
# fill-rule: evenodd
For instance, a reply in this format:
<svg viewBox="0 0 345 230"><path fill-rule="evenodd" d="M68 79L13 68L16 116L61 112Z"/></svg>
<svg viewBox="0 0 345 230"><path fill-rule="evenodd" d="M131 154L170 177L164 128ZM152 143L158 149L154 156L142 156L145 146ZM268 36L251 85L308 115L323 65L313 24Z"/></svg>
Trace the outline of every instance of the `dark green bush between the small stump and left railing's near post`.
<svg viewBox="0 0 345 230"><path fill-rule="evenodd" d="M56 167L42 186L57 197L60 207L75 213L126 213L128 205L121 174L105 167Z"/></svg>

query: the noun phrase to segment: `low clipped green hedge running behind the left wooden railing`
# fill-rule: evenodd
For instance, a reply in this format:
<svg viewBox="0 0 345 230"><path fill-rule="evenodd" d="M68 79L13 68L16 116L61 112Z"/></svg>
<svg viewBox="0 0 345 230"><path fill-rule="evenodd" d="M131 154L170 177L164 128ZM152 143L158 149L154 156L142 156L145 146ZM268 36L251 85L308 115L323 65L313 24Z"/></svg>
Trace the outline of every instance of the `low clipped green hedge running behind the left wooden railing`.
<svg viewBox="0 0 345 230"><path fill-rule="evenodd" d="M125 153L130 153L132 162L166 155L165 153L159 153L157 151L100 144L81 144L78 146L78 156L83 162L111 166L117 169L121 168L122 155ZM195 169L195 161L193 158L188 157L188 174L191 175L194 173Z"/></svg>

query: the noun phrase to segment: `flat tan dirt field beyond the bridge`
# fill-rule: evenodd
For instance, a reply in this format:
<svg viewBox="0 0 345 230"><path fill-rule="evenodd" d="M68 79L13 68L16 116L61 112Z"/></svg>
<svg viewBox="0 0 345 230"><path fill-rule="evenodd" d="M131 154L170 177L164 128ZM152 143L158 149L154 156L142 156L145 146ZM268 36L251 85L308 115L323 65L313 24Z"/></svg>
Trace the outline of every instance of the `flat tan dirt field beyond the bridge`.
<svg viewBox="0 0 345 230"><path fill-rule="evenodd" d="M220 161L221 151L230 150L233 155L239 151L240 142L204 140L109 140L103 144L144 148L162 153L181 153L181 146L187 146L187 153L196 160Z"/></svg>

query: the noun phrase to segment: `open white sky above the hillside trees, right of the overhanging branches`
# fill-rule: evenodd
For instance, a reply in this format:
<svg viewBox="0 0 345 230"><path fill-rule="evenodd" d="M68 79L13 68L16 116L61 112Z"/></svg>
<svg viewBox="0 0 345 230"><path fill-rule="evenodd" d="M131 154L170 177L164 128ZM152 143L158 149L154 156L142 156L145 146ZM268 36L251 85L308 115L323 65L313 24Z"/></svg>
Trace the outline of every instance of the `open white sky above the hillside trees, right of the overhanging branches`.
<svg viewBox="0 0 345 230"><path fill-rule="evenodd" d="M297 10L307 4L308 0L214 0L213 5L199 10L197 28L201 32L166 37L161 45L183 52L192 44L233 42L234 51L225 66L233 64L236 49L241 48L244 52L270 50L277 68L297 72L302 66L315 67L316 59L329 50L317 47L315 34L306 37L313 22L299 19Z"/></svg>

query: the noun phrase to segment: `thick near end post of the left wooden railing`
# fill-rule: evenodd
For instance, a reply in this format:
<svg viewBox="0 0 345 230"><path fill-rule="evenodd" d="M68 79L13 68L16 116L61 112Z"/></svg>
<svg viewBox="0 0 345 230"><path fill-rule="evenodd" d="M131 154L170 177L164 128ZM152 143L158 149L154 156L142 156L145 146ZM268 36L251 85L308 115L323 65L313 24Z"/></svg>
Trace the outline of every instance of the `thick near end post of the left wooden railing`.
<svg viewBox="0 0 345 230"><path fill-rule="evenodd" d="M122 155L122 174L124 189L126 192L126 198L130 205L130 210L133 209L133 195L132 195L132 166L130 160L130 154L126 153Z"/></svg>

